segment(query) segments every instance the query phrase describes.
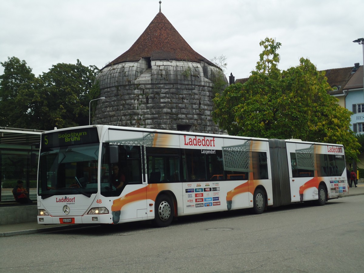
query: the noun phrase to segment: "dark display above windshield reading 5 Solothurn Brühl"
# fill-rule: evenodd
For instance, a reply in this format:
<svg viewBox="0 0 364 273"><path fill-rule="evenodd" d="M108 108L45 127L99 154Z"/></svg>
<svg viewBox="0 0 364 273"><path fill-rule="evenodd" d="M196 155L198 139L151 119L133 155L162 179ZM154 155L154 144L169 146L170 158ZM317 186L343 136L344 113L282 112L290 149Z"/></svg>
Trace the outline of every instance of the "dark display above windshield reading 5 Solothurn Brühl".
<svg viewBox="0 0 364 273"><path fill-rule="evenodd" d="M42 148L79 145L99 142L96 127L78 128L41 135Z"/></svg>

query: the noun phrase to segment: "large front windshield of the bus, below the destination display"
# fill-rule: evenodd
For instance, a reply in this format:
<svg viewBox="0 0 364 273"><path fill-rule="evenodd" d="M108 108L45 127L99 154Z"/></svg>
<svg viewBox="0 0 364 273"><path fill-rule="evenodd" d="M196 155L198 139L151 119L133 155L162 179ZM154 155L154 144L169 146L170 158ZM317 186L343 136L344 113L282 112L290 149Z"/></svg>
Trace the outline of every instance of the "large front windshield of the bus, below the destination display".
<svg viewBox="0 0 364 273"><path fill-rule="evenodd" d="M38 194L97 193L99 143L41 149Z"/></svg>

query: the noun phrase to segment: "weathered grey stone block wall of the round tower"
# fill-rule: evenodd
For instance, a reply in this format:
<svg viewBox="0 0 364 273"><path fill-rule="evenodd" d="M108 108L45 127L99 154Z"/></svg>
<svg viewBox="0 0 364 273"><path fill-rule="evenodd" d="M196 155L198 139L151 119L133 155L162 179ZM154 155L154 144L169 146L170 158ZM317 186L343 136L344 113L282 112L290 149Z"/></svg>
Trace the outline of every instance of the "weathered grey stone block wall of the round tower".
<svg viewBox="0 0 364 273"><path fill-rule="evenodd" d="M145 60L104 68L98 79L106 99L97 101L92 124L166 130L190 124L194 132L221 134L211 117L208 72L204 64L173 61L152 61L151 69Z"/></svg>

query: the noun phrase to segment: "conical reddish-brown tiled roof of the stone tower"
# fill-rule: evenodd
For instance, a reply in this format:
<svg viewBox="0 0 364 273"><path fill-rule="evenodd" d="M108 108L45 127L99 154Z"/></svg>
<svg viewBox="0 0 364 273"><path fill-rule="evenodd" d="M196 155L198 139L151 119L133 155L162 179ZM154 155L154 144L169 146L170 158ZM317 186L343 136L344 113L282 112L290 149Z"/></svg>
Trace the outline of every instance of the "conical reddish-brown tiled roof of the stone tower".
<svg viewBox="0 0 364 273"><path fill-rule="evenodd" d="M215 66L194 51L160 11L129 50L108 63L106 67L123 62L137 62L141 58L190 62L203 61Z"/></svg>

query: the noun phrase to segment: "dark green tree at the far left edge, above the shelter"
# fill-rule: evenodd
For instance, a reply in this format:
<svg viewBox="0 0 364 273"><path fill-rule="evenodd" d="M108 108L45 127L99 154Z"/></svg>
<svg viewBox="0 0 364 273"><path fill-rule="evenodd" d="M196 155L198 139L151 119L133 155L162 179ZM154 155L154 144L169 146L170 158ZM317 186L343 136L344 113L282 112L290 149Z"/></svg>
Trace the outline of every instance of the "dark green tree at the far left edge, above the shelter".
<svg viewBox="0 0 364 273"><path fill-rule="evenodd" d="M35 76L27 63L16 57L8 57L0 64L4 67L4 73L0 75L0 124L15 127L15 120L21 116L16 111L15 98L20 88L31 87Z"/></svg>

